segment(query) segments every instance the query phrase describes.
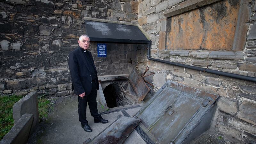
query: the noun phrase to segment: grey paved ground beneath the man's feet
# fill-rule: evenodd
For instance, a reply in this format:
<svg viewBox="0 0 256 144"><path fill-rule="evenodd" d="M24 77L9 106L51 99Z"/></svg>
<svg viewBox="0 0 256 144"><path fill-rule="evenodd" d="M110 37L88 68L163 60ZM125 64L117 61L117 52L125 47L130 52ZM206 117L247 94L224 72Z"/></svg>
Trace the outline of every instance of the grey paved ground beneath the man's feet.
<svg viewBox="0 0 256 144"><path fill-rule="evenodd" d="M116 110L117 112L104 114L102 117L109 121L108 124L94 123L93 117L90 115L90 111L87 105L87 120L92 128L92 132L84 132L81 127L81 123L78 119L77 112L77 96L70 96L67 98L60 98L59 102L55 105L52 112L49 113L49 119L41 123L36 133L29 139L29 143L37 144L82 144L88 138L93 139L101 131L103 131L108 125L116 120L118 115L124 115L127 112L130 116L135 115L139 109L140 105L135 104L131 106L118 107L110 109L122 109L126 110ZM130 108L127 108L130 107ZM98 104L99 112L104 110ZM126 114L127 114L126 113ZM146 142L141 138L141 136L134 130L131 135L126 139L125 144L145 144Z"/></svg>

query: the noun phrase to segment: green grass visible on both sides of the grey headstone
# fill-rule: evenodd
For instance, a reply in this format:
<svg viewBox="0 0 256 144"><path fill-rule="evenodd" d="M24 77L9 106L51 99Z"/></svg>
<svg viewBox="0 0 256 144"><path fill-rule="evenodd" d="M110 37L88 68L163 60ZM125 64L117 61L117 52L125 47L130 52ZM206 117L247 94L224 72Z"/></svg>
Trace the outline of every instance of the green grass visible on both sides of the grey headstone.
<svg viewBox="0 0 256 144"><path fill-rule="evenodd" d="M0 140L3 139L14 125L12 116L12 107L23 96L4 96L0 97ZM48 118L48 112L52 109L53 104L47 98L47 95L38 95L39 121L42 122Z"/></svg>

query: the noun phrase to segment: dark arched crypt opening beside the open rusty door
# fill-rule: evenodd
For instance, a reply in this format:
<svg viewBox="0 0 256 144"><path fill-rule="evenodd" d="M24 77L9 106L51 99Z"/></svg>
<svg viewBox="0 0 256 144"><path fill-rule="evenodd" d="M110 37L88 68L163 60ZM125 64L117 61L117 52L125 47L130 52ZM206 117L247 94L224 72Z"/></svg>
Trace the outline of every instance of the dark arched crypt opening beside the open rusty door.
<svg viewBox="0 0 256 144"><path fill-rule="evenodd" d="M124 88L120 84L109 84L103 93L109 108L127 105Z"/></svg>

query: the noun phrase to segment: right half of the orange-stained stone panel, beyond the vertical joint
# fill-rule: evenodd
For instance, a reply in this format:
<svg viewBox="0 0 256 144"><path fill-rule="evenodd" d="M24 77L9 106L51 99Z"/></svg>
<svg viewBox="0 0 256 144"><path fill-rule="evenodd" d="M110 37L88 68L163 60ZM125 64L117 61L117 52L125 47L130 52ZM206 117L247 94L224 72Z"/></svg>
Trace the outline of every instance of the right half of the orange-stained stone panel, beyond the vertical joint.
<svg viewBox="0 0 256 144"><path fill-rule="evenodd" d="M220 12L212 11L210 8L204 10L205 20L208 24L211 24L211 28L208 29L207 36L205 36L202 44L205 49L232 50L239 9L232 7L230 3L225 1L222 1L222 4L227 8L227 16L220 16ZM214 20L217 17L219 18Z"/></svg>

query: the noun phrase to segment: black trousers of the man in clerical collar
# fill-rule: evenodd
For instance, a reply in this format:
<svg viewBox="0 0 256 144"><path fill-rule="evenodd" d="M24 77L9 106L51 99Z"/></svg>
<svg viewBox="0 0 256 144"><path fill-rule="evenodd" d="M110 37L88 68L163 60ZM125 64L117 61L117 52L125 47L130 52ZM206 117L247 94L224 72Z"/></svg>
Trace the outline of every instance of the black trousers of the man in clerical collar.
<svg viewBox="0 0 256 144"><path fill-rule="evenodd" d="M85 93L84 99L82 99L78 95L78 116L79 116L79 121L81 124L88 124L88 121L86 120L86 107L88 102L88 106L91 112L91 115L94 117L94 120L100 120L102 119L101 115L98 112L97 109L97 102L96 102L96 97L97 97L97 90L96 90L96 82L92 81L92 92L90 95L87 95Z"/></svg>

